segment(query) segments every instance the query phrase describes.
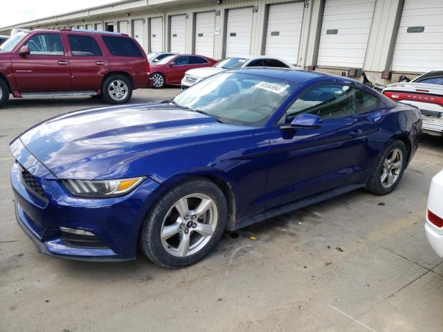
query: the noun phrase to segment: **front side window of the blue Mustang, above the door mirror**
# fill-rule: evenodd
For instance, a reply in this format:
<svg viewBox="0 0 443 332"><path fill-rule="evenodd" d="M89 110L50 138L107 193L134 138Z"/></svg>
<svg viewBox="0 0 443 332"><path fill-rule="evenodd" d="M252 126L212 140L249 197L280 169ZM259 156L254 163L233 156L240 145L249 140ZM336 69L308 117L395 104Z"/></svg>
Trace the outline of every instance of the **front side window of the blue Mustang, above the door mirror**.
<svg viewBox="0 0 443 332"><path fill-rule="evenodd" d="M309 89L287 109L280 123L291 123L300 113L322 119L346 118L356 113L356 89L341 84L323 84Z"/></svg>

